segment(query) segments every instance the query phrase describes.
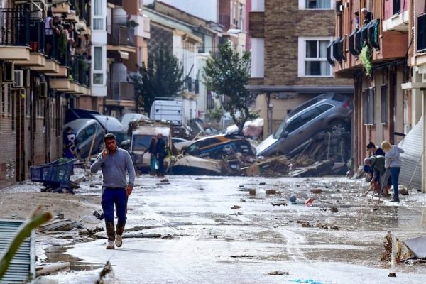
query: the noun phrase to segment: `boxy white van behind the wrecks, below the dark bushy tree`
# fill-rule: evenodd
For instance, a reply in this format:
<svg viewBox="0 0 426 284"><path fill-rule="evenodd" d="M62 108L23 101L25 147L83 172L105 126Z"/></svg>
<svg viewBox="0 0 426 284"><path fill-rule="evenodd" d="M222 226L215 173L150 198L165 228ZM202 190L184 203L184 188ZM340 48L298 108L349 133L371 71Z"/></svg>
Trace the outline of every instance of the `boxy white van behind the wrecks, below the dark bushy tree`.
<svg viewBox="0 0 426 284"><path fill-rule="evenodd" d="M182 101L155 100L151 106L149 118L182 124Z"/></svg>

